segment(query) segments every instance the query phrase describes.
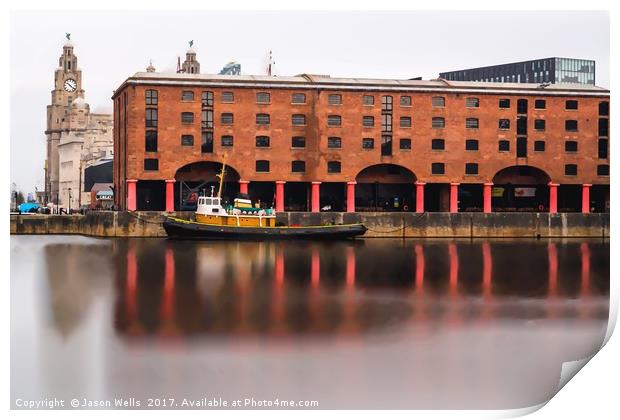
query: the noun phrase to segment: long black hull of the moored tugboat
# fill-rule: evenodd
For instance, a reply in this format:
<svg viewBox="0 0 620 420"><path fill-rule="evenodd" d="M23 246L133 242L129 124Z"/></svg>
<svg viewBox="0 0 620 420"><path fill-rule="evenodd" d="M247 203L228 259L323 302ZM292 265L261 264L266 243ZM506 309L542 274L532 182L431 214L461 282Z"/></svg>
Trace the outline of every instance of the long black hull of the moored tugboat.
<svg viewBox="0 0 620 420"><path fill-rule="evenodd" d="M244 227L166 218L164 229L175 239L347 239L366 233L362 224L328 226Z"/></svg>

